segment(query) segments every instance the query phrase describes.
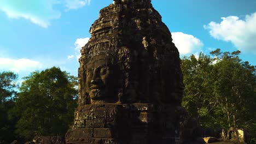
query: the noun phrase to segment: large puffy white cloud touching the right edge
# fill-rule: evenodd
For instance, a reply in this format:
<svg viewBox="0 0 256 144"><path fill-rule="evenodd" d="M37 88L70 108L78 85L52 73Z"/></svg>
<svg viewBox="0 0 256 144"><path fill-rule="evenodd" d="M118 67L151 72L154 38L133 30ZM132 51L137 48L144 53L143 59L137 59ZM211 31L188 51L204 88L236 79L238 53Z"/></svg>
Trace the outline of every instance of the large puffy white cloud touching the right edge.
<svg viewBox="0 0 256 144"><path fill-rule="evenodd" d="M229 41L238 50L256 53L256 13L246 15L245 20L237 16L222 17L222 22L210 22L203 26L218 40Z"/></svg>

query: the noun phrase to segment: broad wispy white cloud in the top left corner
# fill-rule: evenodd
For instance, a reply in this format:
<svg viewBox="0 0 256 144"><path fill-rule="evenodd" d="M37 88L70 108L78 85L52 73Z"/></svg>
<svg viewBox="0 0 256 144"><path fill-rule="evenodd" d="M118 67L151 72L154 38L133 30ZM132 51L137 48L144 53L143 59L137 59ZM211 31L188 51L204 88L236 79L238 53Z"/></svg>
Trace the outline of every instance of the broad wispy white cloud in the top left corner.
<svg viewBox="0 0 256 144"><path fill-rule="evenodd" d="M47 28L51 20L61 16L60 11L53 9L53 5L58 3L57 0L1 0L0 10L10 18L24 18Z"/></svg>

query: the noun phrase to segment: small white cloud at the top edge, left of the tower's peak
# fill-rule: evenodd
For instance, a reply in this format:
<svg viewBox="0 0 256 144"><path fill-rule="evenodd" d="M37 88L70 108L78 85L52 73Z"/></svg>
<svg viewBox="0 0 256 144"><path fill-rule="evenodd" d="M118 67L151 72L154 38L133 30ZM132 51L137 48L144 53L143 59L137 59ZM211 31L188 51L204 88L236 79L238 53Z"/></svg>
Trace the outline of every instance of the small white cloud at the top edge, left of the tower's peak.
<svg viewBox="0 0 256 144"><path fill-rule="evenodd" d="M89 5L91 0L65 0L66 7L68 9L79 9L84 7L85 5Z"/></svg>

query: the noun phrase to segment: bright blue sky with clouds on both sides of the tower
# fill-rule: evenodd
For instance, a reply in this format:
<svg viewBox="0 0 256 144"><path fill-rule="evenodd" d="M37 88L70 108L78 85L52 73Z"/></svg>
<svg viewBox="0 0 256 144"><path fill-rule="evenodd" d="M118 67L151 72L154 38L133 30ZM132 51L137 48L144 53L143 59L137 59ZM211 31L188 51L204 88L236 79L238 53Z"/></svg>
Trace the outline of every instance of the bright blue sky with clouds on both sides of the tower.
<svg viewBox="0 0 256 144"><path fill-rule="evenodd" d="M60 67L77 75L79 49L112 0L0 0L0 71ZM152 0L181 57L240 50L256 65L256 0Z"/></svg>

